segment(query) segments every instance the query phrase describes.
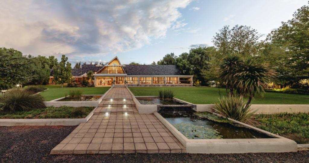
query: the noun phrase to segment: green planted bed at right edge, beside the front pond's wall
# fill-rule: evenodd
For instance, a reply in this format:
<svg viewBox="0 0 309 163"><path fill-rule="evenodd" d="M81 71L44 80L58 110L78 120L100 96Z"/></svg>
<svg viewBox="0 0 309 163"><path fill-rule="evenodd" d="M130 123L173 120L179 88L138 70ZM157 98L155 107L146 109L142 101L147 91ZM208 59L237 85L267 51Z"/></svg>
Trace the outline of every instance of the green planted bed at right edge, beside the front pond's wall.
<svg viewBox="0 0 309 163"><path fill-rule="evenodd" d="M246 123L298 144L309 143L309 113L256 114Z"/></svg>

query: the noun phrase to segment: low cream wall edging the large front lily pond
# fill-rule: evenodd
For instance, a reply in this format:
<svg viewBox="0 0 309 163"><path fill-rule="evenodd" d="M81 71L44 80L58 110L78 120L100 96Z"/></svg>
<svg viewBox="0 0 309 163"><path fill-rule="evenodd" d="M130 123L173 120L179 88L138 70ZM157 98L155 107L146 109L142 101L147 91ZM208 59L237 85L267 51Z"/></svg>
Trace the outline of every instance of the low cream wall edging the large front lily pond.
<svg viewBox="0 0 309 163"><path fill-rule="evenodd" d="M164 117L155 112L155 116L186 147L187 153L260 153L260 152L296 152L295 141L271 134L277 138L265 139L188 139L171 125ZM235 121L235 120L234 120ZM236 123L238 121L235 121ZM240 123L242 124L242 123ZM249 126L249 125L246 125ZM254 127L250 127L254 128ZM269 134L264 130L260 132Z"/></svg>

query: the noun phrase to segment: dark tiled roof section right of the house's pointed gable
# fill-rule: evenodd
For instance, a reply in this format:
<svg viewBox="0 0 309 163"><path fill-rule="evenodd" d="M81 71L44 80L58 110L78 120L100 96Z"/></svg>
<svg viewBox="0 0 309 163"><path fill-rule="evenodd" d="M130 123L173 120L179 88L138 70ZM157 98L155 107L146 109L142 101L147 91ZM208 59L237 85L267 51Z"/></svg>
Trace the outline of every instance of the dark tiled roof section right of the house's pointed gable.
<svg viewBox="0 0 309 163"><path fill-rule="evenodd" d="M176 65L125 65L127 75L181 75Z"/></svg>

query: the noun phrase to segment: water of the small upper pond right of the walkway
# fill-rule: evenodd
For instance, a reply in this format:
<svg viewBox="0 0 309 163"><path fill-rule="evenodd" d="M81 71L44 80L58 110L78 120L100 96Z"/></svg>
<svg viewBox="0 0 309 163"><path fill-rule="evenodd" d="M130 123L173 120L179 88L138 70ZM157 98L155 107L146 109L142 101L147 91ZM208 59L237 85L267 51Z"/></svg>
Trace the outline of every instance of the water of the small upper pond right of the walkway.
<svg viewBox="0 0 309 163"><path fill-rule="evenodd" d="M177 100L166 100L159 97L136 97L141 104L161 104L161 105L187 105Z"/></svg>

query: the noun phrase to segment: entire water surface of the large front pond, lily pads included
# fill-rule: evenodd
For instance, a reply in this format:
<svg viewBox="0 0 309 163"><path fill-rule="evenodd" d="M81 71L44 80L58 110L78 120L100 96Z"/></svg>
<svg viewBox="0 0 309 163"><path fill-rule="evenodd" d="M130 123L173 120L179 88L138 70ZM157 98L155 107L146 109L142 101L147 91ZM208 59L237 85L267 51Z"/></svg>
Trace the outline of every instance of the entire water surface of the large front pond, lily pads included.
<svg viewBox="0 0 309 163"><path fill-rule="evenodd" d="M160 114L188 139L274 138L208 112Z"/></svg>

